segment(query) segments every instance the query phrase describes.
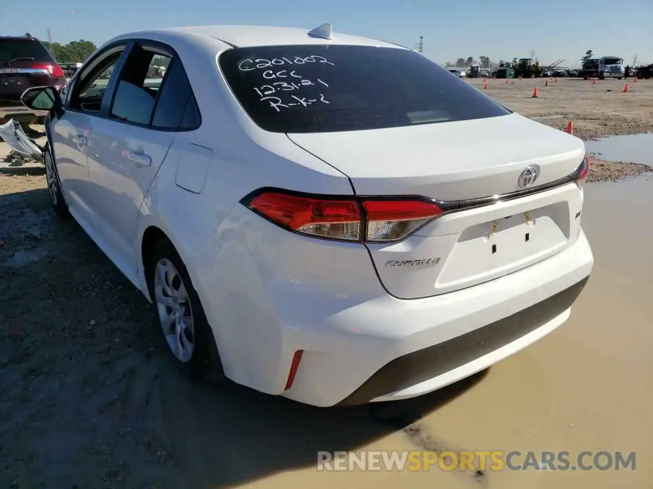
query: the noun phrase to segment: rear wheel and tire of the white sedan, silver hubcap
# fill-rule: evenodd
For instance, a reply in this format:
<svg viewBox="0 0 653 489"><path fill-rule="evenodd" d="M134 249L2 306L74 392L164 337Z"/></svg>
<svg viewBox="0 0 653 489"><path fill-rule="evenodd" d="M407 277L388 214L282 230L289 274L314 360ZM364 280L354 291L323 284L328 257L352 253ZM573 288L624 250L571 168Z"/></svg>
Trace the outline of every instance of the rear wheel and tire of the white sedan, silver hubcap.
<svg viewBox="0 0 653 489"><path fill-rule="evenodd" d="M172 363L188 378L225 383L202 303L182 259L167 239L159 240L151 256L148 288L154 304L154 322L163 333ZM169 304L163 304L163 299ZM166 317L172 319L169 325Z"/></svg>

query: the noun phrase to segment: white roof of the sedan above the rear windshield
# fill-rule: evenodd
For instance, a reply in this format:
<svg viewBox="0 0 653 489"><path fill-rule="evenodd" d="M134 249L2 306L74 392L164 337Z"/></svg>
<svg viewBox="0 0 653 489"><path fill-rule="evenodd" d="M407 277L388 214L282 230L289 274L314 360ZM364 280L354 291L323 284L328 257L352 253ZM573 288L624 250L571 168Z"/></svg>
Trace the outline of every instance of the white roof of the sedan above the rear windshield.
<svg viewBox="0 0 653 489"><path fill-rule="evenodd" d="M357 46L383 46L387 48L404 48L392 42L333 33L333 40L308 35L311 29L295 27L273 27L264 25L197 25L189 27L168 27L127 33L119 38L131 37L166 37L167 35L189 34L221 40L234 47L279 46L288 44L351 44ZM407 48L404 48L407 49Z"/></svg>

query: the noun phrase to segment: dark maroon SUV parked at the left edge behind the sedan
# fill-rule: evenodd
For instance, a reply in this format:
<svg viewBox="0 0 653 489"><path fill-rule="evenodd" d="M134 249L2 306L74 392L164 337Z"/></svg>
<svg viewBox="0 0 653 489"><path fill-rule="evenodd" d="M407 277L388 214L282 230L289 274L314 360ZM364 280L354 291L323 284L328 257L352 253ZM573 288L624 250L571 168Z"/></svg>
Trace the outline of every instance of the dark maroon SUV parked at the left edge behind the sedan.
<svg viewBox="0 0 653 489"><path fill-rule="evenodd" d="M30 87L61 91L65 84L63 71L38 39L0 36L0 124L42 121L48 112L28 109L20 96Z"/></svg>

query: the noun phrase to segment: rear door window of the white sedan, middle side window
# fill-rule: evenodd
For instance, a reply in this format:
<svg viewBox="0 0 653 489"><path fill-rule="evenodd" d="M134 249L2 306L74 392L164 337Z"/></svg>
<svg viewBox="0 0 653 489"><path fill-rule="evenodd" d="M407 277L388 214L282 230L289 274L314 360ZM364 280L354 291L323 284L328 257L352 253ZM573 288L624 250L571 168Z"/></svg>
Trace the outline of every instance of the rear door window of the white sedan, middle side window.
<svg viewBox="0 0 653 489"><path fill-rule="evenodd" d="M116 83L110 117L148 125L170 57L134 46Z"/></svg>

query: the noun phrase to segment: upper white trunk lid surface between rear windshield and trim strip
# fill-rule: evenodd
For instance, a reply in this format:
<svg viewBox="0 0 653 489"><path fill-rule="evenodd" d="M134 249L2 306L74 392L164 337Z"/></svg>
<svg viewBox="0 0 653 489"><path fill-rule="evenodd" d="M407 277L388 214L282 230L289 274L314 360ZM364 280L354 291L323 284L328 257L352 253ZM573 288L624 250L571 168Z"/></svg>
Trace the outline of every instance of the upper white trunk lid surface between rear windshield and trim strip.
<svg viewBox="0 0 653 489"><path fill-rule="evenodd" d="M581 164L582 140L516 113L441 124L319 134L289 134L347 175L358 195L421 195L463 200L514 192L525 166L534 185Z"/></svg>

